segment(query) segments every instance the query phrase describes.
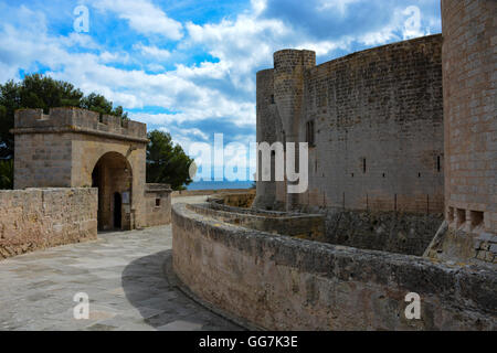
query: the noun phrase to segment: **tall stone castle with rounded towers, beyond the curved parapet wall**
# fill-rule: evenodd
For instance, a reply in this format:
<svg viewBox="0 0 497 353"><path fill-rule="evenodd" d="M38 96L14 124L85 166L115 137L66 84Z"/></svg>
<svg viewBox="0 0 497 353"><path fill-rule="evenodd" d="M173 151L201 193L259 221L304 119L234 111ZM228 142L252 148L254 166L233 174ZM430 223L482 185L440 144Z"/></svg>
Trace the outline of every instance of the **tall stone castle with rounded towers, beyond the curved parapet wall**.
<svg viewBox="0 0 497 353"><path fill-rule="evenodd" d="M420 222L444 213L446 244L438 236L431 255L495 261L495 2L443 1L442 13L443 36L317 66L311 51L274 53L274 68L257 73L257 142L308 142L309 188L292 194L284 181L260 180L255 207L393 212Z"/></svg>

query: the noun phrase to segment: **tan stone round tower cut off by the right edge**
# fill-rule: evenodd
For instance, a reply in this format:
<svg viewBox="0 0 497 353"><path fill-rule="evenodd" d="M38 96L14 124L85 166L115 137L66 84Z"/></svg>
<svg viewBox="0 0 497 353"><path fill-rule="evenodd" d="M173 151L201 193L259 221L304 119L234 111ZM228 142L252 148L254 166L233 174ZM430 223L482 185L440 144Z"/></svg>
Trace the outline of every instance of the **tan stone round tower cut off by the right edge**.
<svg viewBox="0 0 497 353"><path fill-rule="evenodd" d="M497 1L442 1L448 227L497 235Z"/></svg>

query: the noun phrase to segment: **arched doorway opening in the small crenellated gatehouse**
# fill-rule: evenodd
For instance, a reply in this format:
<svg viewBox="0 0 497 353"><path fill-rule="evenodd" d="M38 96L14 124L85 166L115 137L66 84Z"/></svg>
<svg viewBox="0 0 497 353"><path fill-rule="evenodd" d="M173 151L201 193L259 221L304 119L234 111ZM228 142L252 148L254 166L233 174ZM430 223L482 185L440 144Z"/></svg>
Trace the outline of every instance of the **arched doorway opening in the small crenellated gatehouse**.
<svg viewBox="0 0 497 353"><path fill-rule="evenodd" d="M118 152L102 156L92 172L92 186L98 188L98 229L131 229L133 171L129 161Z"/></svg>

